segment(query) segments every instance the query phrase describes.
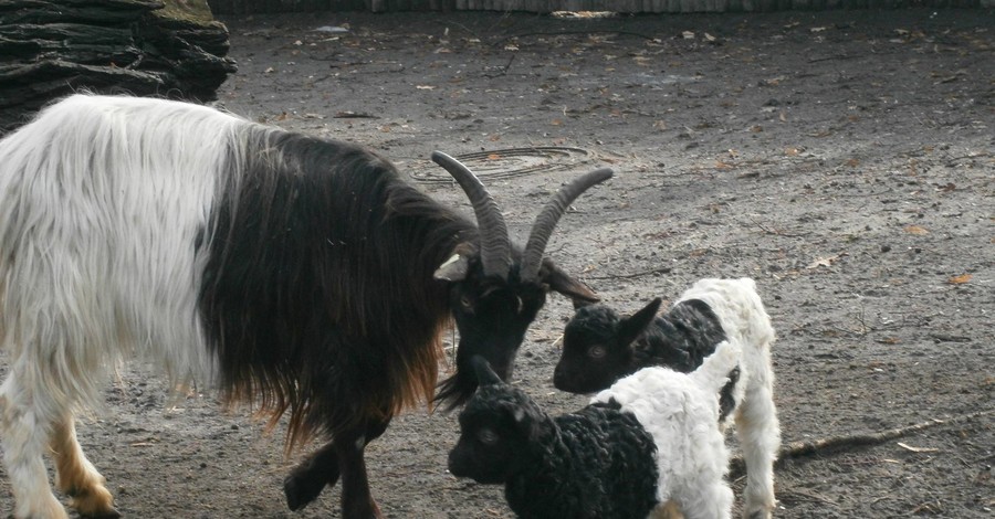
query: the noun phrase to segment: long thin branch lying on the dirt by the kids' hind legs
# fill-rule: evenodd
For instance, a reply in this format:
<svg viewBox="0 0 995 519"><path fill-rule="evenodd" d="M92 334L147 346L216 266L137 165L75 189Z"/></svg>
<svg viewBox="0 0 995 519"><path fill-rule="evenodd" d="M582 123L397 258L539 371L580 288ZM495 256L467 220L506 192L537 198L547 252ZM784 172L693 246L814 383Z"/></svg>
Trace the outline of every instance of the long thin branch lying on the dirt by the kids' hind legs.
<svg viewBox="0 0 995 519"><path fill-rule="evenodd" d="M995 410L978 411L976 413L963 414L952 419L933 419L929 422L922 422L905 427L890 428L877 433L853 434L847 436L830 436L828 438L814 439L810 442L792 442L781 447L777 453L777 466L783 466L785 459L810 456L814 454L829 454L832 452L845 451L848 447L863 447L869 445L878 445L890 439L900 438L912 433L918 433L938 425L949 425L957 422L967 422L982 416L995 414ZM735 479L746 473L746 465L742 456L735 456L730 460L730 479Z"/></svg>

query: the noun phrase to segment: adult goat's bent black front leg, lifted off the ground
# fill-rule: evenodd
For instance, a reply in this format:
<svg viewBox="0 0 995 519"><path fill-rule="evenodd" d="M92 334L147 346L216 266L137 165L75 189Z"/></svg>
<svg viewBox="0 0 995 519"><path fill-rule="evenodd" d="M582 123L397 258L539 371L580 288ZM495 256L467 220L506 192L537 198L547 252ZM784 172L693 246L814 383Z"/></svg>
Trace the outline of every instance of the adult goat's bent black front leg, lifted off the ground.
<svg viewBox="0 0 995 519"><path fill-rule="evenodd" d="M388 417L366 427L364 447L380 437L389 424ZM317 499L325 486L334 487L338 481L338 454L333 441L307 456L283 479L283 495L286 497L287 508L297 511L306 507Z"/></svg>

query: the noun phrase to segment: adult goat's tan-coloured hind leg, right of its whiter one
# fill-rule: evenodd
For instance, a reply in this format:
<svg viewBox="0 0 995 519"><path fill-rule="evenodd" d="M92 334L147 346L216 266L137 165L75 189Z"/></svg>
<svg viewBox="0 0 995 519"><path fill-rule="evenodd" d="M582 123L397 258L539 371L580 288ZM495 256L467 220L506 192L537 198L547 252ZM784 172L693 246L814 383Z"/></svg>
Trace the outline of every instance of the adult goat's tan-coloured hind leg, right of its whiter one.
<svg viewBox="0 0 995 519"><path fill-rule="evenodd" d="M55 458L55 486L72 498L72 506L83 517L113 519L121 517L114 498L104 486L104 477L86 459L72 414L66 414L52 428L50 447Z"/></svg>

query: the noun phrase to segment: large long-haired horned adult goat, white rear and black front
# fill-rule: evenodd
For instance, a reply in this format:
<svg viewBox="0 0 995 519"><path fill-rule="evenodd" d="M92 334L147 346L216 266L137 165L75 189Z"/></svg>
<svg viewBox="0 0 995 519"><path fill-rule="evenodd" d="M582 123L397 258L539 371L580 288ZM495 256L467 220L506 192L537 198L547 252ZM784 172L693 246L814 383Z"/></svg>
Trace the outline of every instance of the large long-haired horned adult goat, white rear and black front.
<svg viewBox="0 0 995 519"><path fill-rule="evenodd" d="M74 95L0 140L0 442L17 518L116 517L76 441L74 411L130 353L172 381L216 383L273 421L287 448L331 441L284 483L297 509L343 483L343 517L378 517L365 446L432 399L441 333L460 332L436 400L476 386L471 354L506 377L549 290L597 297L544 257L562 189L524 251L465 167L440 166L479 227L357 146L161 99ZM486 341L484 341L486 339Z"/></svg>

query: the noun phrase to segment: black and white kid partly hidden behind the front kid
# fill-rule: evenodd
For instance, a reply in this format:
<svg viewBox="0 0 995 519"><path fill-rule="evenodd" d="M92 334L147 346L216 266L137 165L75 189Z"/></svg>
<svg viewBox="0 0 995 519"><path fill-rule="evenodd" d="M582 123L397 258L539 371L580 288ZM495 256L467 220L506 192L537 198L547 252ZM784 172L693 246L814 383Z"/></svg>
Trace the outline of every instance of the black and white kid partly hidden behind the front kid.
<svg viewBox="0 0 995 519"><path fill-rule="evenodd" d="M661 300L630 317L605 305L578 308L563 337L553 383L591 393L648 366L691 372L723 340L742 345L742 361L721 394L721 420L735 420L746 462L743 517L768 518L774 509L774 460L781 426L774 406L771 346L774 328L753 279L702 279L657 316Z"/></svg>

